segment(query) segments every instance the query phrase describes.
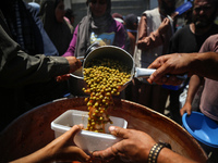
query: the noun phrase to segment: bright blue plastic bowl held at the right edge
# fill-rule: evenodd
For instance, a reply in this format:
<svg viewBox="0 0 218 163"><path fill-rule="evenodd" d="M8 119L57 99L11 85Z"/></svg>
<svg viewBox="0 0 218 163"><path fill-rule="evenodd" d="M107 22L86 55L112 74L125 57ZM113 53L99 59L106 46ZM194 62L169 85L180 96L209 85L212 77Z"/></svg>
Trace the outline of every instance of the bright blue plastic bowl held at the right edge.
<svg viewBox="0 0 218 163"><path fill-rule="evenodd" d="M209 153L218 148L218 123L199 112L186 113L182 116L183 127L202 145L205 152Z"/></svg>

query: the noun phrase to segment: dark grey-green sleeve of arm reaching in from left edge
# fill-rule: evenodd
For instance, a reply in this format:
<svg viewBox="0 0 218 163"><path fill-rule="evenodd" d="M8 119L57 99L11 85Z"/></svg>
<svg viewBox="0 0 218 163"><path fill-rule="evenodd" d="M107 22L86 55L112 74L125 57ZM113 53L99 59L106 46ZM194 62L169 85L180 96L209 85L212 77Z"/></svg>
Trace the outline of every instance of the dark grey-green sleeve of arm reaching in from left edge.
<svg viewBox="0 0 218 163"><path fill-rule="evenodd" d="M28 55L21 51L0 25L0 86L16 87L46 82L51 77L69 73L65 58Z"/></svg>

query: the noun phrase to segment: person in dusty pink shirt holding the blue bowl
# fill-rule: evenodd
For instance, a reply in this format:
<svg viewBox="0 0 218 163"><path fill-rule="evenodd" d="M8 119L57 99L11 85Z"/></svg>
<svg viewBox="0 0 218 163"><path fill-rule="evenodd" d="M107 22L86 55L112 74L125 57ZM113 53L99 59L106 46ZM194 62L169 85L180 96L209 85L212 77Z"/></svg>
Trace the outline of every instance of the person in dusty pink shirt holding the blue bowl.
<svg viewBox="0 0 218 163"><path fill-rule="evenodd" d="M208 39L206 39L206 41L204 42L204 45L199 50L199 52L208 52L208 51L218 52L218 34L213 35ZM190 87L187 91L186 101L184 106L180 110L180 113L181 115L183 115L185 112L189 115L191 114L194 95L198 90L198 87L201 86L202 83L204 83L204 89L199 102L199 110L206 116L218 122L218 101L217 101L218 82L198 75L193 75L190 79Z"/></svg>

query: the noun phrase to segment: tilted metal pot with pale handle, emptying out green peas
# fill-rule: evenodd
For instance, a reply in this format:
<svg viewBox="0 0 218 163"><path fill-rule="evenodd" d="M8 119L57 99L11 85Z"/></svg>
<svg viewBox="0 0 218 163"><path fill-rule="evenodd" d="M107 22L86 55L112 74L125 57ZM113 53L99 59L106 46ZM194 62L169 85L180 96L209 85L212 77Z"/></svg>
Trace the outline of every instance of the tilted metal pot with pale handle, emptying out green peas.
<svg viewBox="0 0 218 163"><path fill-rule="evenodd" d="M83 67L75 71L74 73L71 74L71 76L78 78L78 79L84 79L83 76L83 68L86 67L87 63L90 62L93 59L112 59L112 60L118 60L128 65L131 70L131 78L128 83L125 83L120 91L122 91L128 84L132 80L133 77L143 77L147 78L149 77L156 70L154 68L140 68L135 67L134 60L132 55L123 50L122 48L116 47L116 46L101 46L99 47L97 43L92 45L88 50L87 50L87 55L86 58L78 58L83 59ZM177 75L178 78L180 79L186 79L187 75Z"/></svg>

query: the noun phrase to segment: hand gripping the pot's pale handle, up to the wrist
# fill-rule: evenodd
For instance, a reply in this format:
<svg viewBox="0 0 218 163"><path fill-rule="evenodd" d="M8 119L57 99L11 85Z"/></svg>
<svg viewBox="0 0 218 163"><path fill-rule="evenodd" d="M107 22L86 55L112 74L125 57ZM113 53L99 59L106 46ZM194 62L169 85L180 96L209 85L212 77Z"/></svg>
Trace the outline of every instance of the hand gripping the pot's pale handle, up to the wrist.
<svg viewBox="0 0 218 163"><path fill-rule="evenodd" d="M183 80L177 78L174 75L190 72L189 76L191 76L191 62L192 58L189 53L174 53L159 57L148 66L148 68L157 68L157 71L155 71L147 80L150 84L156 83L159 85L180 85ZM174 75L166 77L167 74Z"/></svg>

